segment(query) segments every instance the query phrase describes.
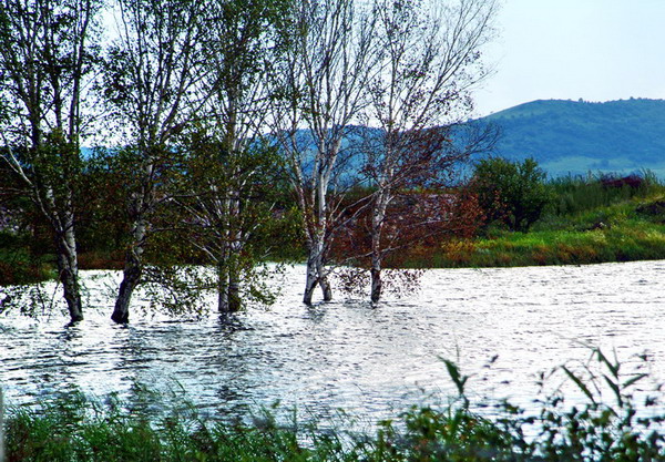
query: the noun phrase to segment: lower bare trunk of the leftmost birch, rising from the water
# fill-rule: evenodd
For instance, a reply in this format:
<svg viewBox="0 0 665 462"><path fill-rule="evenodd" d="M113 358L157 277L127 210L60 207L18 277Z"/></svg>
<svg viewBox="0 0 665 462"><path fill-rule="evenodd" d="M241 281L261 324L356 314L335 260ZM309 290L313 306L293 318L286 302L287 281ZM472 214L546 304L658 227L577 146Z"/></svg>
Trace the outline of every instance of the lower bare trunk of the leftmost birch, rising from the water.
<svg viewBox="0 0 665 462"><path fill-rule="evenodd" d="M58 277L62 284L64 300L71 322L83 320L81 290L79 286L79 260L73 226L57 233Z"/></svg>

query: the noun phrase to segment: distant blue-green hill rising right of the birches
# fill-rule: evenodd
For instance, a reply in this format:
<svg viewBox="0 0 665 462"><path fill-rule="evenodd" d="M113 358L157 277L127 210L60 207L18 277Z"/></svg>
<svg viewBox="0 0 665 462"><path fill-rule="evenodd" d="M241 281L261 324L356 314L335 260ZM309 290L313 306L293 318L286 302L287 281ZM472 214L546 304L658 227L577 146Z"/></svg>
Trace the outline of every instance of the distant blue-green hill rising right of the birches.
<svg viewBox="0 0 665 462"><path fill-rule="evenodd" d="M533 101L489 115L495 154L534 157L552 176L649 168L665 177L665 100Z"/></svg>

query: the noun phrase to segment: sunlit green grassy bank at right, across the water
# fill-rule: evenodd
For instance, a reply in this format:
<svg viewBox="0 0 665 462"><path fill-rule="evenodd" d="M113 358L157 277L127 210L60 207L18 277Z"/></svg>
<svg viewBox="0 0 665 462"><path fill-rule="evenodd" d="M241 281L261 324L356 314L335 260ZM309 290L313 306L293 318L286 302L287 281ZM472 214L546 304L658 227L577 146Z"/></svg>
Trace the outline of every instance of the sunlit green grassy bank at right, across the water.
<svg viewBox="0 0 665 462"><path fill-rule="evenodd" d="M647 177L648 178L648 177ZM603 186L600 178L560 178L552 202L529 232L490 227L471 239L416 248L410 267L582 265L665 258L665 187Z"/></svg>

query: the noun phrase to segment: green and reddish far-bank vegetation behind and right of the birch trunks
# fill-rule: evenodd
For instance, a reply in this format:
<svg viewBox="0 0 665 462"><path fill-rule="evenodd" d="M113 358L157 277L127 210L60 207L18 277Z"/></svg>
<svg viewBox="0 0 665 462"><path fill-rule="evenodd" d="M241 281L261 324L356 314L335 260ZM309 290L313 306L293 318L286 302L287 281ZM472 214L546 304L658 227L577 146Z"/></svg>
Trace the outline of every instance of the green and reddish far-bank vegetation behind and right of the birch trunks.
<svg viewBox="0 0 665 462"><path fill-rule="evenodd" d="M513 175L504 185L513 191L512 197L501 197L497 191L485 192L491 199L482 204L482 195L473 191L473 179L457 191L411 191L398 195L387 214L385 232L399 251L387 254L386 266L511 267L665 258L665 185L649 172L627 177L589 174L545 179L535 163L524 164L524 173L533 184L522 186L522 192L515 195L514 191L520 191L520 187L511 186L510 182L515 182L518 163L500 160L488 161L483 165L487 167L492 163L501 164L497 171L485 170L490 176L493 175L491 184L494 187L501 183L497 176L501 170L504 176ZM91 175L99 174L93 170L90 172ZM538 174L534 175L534 172ZM101 179L91 181L92 184L95 182ZM370 192L357 189L348 195L348 201L362 204L368 194ZM528 197L530 194L533 199ZM426 199L415 198L416 195L424 195ZM299 212L288 184L274 179L265 197L270 197L267 208L263 212L256 208L258 214L263 214L260 233L254 233L247 240L247 247L260 257L246 261L303 260L306 250L298 237ZM255 207L260 207L260 204L255 204ZM108 196L100 195L90 205L80 213L80 267L120 269L126 224L119 218L123 215ZM48 250L50 237L47 225L34 214L22 215L21 211L29 208L24 208L24 203L21 207L14 208L12 223L16 230L0 234L0 277L6 285L44 280L52 278L55 271L55 258ZM529 212L523 212L530 207ZM522 211L522 217L530 218L515 220L515 209ZM352 208L349 211L356 213ZM432 219L441 215L446 215L446 219ZM356 216L355 226L342 229L344 233L337 236L330 251L332 261L354 264L360 261L358 255L370 255L371 240L367 233L370 224L366 222L367 215L358 213ZM411 224L427 225L403 226L405 216L409 216ZM188 228L183 225L185 220L177 209L171 208L155 222L164 229L155 233L146 245L144 258L151 268L144 278L146 283L150 276L162 285L175 284L175 279L168 279L168 268L182 264L207 264L201 245L214 245L214 240L209 240L212 230L201 226ZM178 222L180 226L168 228L168 223ZM520 222L520 226L514 225ZM349 259L349 256L354 258ZM198 280L196 284L208 288L215 285L212 280ZM259 287L258 280L255 284ZM357 284L347 286L358 290Z"/></svg>

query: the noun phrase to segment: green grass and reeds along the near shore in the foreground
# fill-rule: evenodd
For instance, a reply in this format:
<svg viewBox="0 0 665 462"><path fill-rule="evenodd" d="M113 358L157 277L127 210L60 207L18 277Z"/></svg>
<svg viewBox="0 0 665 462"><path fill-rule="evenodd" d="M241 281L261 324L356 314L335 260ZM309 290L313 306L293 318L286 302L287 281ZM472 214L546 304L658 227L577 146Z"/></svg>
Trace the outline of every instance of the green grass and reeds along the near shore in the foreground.
<svg viewBox="0 0 665 462"><path fill-rule="evenodd" d="M664 419L657 399L642 392L645 363L627 372L593 350L583 368L552 373L586 397L571 405L555 391L528 414L508 402L470 403L468 377L446 361L460 392L442 407L412 407L362 432L354 420L336 424L263 411L244 422L203 419L193 405L129 405L72 391L39 408L10 408L4 425L8 461L663 461ZM557 378L559 380L559 378ZM657 388L654 390L657 396ZM153 397L153 401L154 401ZM156 398L158 400L158 398ZM171 402L171 401L168 401ZM493 418L472 409L493 408ZM638 407L638 408L637 408ZM640 410L638 410L640 409ZM277 415L277 417L276 417Z"/></svg>

